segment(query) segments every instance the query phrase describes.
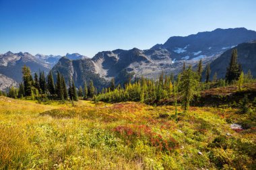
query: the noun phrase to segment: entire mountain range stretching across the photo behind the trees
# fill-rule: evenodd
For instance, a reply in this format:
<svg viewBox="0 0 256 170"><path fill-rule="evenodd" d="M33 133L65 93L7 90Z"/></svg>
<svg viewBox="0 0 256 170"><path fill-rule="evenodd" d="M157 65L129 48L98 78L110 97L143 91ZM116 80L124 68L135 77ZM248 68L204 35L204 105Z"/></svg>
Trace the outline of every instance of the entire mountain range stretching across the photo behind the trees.
<svg viewBox="0 0 256 170"><path fill-rule="evenodd" d="M148 50L133 48L102 51L93 58L77 53L67 53L65 57L61 57L42 54L32 56L28 52L16 54L7 52L0 54L0 73L15 82L20 82L23 65L30 67L32 73L38 69L48 72L53 68L54 75L60 71L66 81L72 76L77 86L92 79L100 88L108 85L112 78L115 78L117 83L122 83L134 75L154 79L162 71L176 74L181 71L183 62L195 67L198 60L202 59L204 65L212 62L212 74L216 71L218 77L224 77L223 72L226 71L226 65L230 59L230 49L237 46L238 60L241 61L243 69L245 71L251 69L256 75L253 69L255 67L253 60L256 60L253 45L255 43L251 42L253 40L256 40L255 31L234 28L199 32L185 37L173 36L164 44L156 44ZM241 44L244 42L251 43ZM0 89L3 89L1 85Z"/></svg>

